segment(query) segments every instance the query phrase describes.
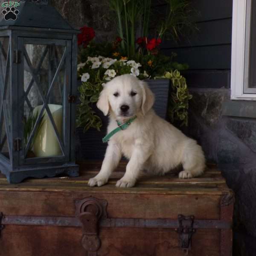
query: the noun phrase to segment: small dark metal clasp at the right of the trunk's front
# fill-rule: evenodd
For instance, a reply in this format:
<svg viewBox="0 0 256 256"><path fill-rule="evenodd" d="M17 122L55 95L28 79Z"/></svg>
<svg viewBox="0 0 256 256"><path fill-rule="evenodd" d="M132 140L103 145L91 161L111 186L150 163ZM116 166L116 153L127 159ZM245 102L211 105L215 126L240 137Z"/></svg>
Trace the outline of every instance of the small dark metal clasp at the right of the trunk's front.
<svg viewBox="0 0 256 256"><path fill-rule="evenodd" d="M191 249L191 239L192 235L195 233L195 229L193 228L195 217L178 215L178 225L179 227L176 232L179 234L180 247L183 251L188 254Z"/></svg>

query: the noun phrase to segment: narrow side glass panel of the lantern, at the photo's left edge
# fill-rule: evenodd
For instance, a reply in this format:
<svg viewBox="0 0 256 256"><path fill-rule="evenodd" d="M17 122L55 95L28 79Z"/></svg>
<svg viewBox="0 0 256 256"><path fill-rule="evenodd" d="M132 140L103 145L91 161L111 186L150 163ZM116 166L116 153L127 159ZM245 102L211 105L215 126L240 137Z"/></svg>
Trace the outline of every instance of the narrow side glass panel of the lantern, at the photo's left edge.
<svg viewBox="0 0 256 256"><path fill-rule="evenodd" d="M10 156L10 62L9 37L0 38L0 153L6 158Z"/></svg>

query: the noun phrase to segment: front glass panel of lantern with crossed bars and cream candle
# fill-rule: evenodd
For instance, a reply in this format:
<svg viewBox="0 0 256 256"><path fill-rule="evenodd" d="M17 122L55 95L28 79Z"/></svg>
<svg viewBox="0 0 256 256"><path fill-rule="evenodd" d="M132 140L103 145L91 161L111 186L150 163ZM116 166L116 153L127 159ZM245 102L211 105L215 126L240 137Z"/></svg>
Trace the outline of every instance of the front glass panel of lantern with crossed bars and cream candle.
<svg viewBox="0 0 256 256"><path fill-rule="evenodd" d="M25 155L64 155L66 47L24 45Z"/></svg>

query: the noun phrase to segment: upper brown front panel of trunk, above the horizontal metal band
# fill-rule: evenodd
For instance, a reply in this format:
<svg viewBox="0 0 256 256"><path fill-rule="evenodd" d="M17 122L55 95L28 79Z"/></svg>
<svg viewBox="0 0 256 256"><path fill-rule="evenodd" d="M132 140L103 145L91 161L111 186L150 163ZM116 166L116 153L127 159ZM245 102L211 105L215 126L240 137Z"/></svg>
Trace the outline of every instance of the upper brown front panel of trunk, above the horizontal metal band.
<svg viewBox="0 0 256 256"><path fill-rule="evenodd" d="M209 189L212 190L212 189ZM94 190L96 191L96 189ZM100 192L100 189L99 189ZM173 218L178 214L195 215L197 219L219 219L221 195L155 195L154 189L147 194L131 193L114 195L83 192L1 191L0 209L5 215L27 216L74 216L75 201L86 197L105 199L108 202L108 218ZM196 192L195 192L196 193ZM206 211L207 209L207 211Z"/></svg>

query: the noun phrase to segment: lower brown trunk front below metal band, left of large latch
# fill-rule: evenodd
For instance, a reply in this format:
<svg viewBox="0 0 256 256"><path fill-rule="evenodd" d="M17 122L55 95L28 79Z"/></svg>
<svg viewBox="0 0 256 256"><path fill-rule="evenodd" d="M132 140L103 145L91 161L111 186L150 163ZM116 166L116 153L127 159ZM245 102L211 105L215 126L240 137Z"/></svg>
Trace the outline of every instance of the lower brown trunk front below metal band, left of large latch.
<svg viewBox="0 0 256 256"><path fill-rule="evenodd" d="M0 256L84 256L81 228L6 225Z"/></svg>

